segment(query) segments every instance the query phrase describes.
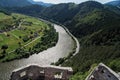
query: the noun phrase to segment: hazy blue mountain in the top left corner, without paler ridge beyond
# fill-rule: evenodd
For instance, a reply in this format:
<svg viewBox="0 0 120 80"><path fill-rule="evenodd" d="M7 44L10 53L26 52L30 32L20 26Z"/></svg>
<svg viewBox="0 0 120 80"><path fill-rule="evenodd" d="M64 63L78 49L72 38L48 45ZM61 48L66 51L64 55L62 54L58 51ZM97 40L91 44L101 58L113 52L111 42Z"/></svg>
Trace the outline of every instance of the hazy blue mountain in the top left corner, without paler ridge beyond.
<svg viewBox="0 0 120 80"><path fill-rule="evenodd" d="M27 0L0 0L0 6L2 7L23 7L31 5Z"/></svg>

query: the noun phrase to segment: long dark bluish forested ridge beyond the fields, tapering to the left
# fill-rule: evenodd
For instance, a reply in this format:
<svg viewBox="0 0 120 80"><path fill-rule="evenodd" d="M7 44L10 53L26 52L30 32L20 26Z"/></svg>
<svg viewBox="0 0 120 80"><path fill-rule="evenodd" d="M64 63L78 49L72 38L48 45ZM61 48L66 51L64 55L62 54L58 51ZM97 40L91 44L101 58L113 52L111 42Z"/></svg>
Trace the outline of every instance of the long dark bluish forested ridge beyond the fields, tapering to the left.
<svg viewBox="0 0 120 80"><path fill-rule="evenodd" d="M35 6L37 5L14 9L12 8L12 11L23 14L26 14L26 12L30 12L28 13L28 15L32 14L32 16L56 20L57 22L61 23L69 22L69 20L71 20L79 12L79 5L74 3L62 3L50 7L37 6L36 9Z"/></svg>

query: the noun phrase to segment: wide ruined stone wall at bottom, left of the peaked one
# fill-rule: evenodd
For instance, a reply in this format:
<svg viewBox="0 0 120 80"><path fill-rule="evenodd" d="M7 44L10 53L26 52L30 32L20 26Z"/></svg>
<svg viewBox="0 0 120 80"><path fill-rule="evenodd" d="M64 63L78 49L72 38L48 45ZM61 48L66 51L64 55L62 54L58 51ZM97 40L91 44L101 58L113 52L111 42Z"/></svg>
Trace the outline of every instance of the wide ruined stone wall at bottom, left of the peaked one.
<svg viewBox="0 0 120 80"><path fill-rule="evenodd" d="M14 70L10 80L69 80L72 74L70 67L29 65Z"/></svg>

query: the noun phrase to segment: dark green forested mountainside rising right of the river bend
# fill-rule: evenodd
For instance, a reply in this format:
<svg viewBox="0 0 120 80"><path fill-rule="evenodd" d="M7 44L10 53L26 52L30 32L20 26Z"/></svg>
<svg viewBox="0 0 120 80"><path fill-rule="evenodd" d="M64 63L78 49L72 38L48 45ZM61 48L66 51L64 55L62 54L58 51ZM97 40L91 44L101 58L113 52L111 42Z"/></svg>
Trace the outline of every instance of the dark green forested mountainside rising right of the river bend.
<svg viewBox="0 0 120 80"><path fill-rule="evenodd" d="M77 76L73 76L71 80L85 80L91 66L100 62L119 72L120 15L106 9L100 3L82 4L86 6L82 6L83 10L80 10L67 25L69 30L79 38L81 49L62 66L72 66L74 73L77 73ZM99 6L95 7L95 4Z"/></svg>

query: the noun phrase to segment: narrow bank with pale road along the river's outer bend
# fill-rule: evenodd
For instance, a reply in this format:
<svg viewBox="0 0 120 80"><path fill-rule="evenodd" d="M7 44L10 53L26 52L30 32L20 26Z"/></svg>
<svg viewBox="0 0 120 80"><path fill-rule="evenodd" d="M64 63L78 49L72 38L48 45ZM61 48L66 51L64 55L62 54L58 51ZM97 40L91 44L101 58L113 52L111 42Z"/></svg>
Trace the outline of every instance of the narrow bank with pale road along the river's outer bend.
<svg viewBox="0 0 120 80"><path fill-rule="evenodd" d="M69 36L73 39L73 41L74 41L74 48L73 48L72 51L69 53L69 55L60 58L60 59L59 59L58 61L56 61L56 62L52 62L51 65L62 66L62 64L63 64L64 62L66 62L68 59L74 57L77 53L79 53L80 43L79 43L78 39L77 39L74 35L72 35L72 34L70 33L70 31L69 31L64 25L62 25L61 23L56 22L56 21L54 21L54 20L49 20L49 19L48 19L48 20L49 20L49 21L48 21L48 20L41 19L41 18L40 18L40 20L42 20L42 21L44 21L44 22L47 22L47 23L55 23L55 24L60 25L61 27L64 28L64 30L68 33L68 35L69 35Z"/></svg>

